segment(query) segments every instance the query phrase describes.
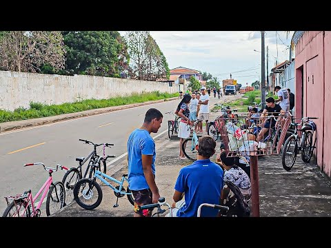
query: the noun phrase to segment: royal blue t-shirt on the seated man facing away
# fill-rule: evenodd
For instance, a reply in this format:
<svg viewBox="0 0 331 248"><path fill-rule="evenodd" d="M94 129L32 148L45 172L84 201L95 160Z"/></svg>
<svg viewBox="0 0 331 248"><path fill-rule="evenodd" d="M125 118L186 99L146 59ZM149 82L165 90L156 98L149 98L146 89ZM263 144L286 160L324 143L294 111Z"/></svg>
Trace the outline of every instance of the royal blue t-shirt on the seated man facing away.
<svg viewBox="0 0 331 248"><path fill-rule="evenodd" d="M210 159L195 161L181 168L174 189L184 192L185 205L177 211L178 217L197 217L202 203L218 204L223 189L223 169ZM201 208L201 217L216 217L217 209Z"/></svg>

